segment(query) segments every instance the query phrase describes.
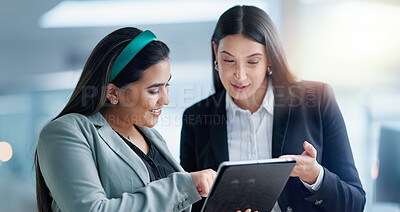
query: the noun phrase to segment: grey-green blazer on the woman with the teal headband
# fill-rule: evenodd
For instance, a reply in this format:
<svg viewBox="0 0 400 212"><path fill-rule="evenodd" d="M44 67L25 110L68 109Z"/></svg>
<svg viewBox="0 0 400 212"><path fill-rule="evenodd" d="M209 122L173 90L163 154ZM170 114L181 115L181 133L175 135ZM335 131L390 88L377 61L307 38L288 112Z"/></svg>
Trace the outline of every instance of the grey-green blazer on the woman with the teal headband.
<svg viewBox="0 0 400 212"><path fill-rule="evenodd" d="M142 160L100 113L47 124L37 153L53 211L190 211L201 199L192 178L156 130L140 129L177 172L150 183Z"/></svg>

